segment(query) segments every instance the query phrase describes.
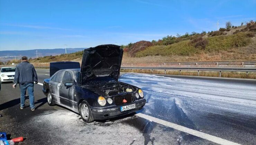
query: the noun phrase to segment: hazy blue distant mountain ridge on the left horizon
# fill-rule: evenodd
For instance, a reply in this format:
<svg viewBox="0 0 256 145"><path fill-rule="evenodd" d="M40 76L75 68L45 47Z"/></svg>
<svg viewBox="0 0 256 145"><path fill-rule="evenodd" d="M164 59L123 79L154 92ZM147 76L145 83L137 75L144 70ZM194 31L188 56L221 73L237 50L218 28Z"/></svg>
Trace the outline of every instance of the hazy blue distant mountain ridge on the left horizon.
<svg viewBox="0 0 256 145"><path fill-rule="evenodd" d="M67 54L84 50L85 48L67 48ZM33 50L4 50L0 51L0 61L6 62L11 59L20 59L22 56L27 56L28 58L36 58L36 50L38 57L43 56L55 56L65 54L65 48L56 48L56 49L33 49Z"/></svg>

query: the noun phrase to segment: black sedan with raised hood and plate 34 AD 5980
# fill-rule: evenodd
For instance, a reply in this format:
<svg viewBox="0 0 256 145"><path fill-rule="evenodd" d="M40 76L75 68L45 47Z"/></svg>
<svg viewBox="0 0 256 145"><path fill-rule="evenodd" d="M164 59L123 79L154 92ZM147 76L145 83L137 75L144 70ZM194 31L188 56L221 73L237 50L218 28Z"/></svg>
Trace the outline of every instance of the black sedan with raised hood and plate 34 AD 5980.
<svg viewBox="0 0 256 145"><path fill-rule="evenodd" d="M44 80L43 92L48 104L71 109L79 113L84 122L142 109L146 103L143 91L118 81L122 54L123 50L117 45L85 49L81 69L60 67L51 78ZM70 62L62 63L69 65Z"/></svg>

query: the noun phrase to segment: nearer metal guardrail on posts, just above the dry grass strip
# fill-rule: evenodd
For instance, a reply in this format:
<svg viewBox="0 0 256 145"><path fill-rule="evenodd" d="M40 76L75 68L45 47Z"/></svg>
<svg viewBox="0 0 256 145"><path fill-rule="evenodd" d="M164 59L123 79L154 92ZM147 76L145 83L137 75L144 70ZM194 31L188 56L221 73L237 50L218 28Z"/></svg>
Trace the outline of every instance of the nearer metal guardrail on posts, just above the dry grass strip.
<svg viewBox="0 0 256 145"><path fill-rule="evenodd" d="M39 69L49 69L50 67L41 66L41 67L35 67ZM121 67L121 70L151 70L151 73L153 73L153 70L164 70L164 74L166 74L166 70L178 70L179 74L181 75L181 71L198 71L198 76L200 71L218 71L219 77L221 77L222 71L235 71L235 72L246 72L246 75L248 76L248 72L256 72L256 68L243 68L243 67Z"/></svg>

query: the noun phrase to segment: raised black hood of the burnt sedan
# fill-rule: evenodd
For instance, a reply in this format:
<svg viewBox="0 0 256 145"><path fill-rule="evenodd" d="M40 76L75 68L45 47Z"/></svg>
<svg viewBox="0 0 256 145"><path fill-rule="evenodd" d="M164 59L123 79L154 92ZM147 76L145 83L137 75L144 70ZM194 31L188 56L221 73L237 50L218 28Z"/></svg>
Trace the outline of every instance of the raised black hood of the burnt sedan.
<svg viewBox="0 0 256 145"><path fill-rule="evenodd" d="M96 77L111 77L118 80L123 50L117 45L99 45L84 49L80 84L86 85Z"/></svg>

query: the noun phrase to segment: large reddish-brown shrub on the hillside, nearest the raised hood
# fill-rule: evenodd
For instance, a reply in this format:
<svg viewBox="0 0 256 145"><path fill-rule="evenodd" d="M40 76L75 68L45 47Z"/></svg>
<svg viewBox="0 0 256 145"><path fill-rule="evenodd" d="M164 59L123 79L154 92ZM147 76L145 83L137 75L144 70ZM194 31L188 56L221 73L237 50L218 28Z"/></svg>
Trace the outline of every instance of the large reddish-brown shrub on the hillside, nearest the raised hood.
<svg viewBox="0 0 256 145"><path fill-rule="evenodd" d="M146 49L146 47L153 46L153 43L149 41L138 41L129 48L128 56L135 57L138 51L142 51Z"/></svg>

